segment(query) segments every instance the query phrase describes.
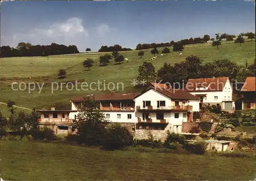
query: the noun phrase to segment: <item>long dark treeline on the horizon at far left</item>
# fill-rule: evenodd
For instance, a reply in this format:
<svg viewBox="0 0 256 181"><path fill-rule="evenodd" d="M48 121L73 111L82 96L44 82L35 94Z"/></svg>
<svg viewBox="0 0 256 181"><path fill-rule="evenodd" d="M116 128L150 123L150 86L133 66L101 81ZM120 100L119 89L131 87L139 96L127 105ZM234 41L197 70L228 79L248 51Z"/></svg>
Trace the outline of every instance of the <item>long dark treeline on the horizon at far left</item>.
<svg viewBox="0 0 256 181"><path fill-rule="evenodd" d="M23 56L48 56L79 53L74 45L51 43L50 45L32 45L31 43L19 42L16 48L10 46L0 47L0 57L23 57Z"/></svg>

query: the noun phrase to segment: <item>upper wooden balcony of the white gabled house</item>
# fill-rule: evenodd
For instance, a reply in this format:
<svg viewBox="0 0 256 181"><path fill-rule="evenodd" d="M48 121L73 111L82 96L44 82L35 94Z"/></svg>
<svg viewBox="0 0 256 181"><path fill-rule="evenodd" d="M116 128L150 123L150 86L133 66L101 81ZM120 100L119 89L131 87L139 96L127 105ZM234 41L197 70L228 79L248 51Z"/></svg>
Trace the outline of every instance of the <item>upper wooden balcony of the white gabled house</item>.
<svg viewBox="0 0 256 181"><path fill-rule="evenodd" d="M153 106L141 107L136 106L136 110L138 111L161 111L161 110L193 110L193 106L185 105L185 106L160 106L157 108L153 108Z"/></svg>

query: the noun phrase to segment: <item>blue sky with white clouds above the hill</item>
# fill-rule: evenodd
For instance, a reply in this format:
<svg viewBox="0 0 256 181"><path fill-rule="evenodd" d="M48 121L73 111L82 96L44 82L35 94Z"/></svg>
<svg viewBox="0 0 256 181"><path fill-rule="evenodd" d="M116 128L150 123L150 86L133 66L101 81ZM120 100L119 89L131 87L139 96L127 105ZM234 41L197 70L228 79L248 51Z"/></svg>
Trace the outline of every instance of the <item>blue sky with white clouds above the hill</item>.
<svg viewBox="0 0 256 181"><path fill-rule="evenodd" d="M74 44L80 52L102 45L135 49L215 33L255 32L248 1L18 1L1 3L1 46Z"/></svg>

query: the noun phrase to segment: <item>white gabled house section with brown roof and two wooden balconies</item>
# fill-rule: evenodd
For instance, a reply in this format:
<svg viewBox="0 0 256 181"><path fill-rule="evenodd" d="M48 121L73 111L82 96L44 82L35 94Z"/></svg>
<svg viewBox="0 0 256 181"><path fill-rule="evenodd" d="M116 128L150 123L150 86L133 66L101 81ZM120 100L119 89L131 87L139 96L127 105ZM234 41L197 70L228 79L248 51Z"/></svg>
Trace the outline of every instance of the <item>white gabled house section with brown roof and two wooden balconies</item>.
<svg viewBox="0 0 256 181"><path fill-rule="evenodd" d="M199 98L182 89L151 87L135 97L135 107L137 132L151 129L178 133L183 122L191 121L192 112L199 111Z"/></svg>

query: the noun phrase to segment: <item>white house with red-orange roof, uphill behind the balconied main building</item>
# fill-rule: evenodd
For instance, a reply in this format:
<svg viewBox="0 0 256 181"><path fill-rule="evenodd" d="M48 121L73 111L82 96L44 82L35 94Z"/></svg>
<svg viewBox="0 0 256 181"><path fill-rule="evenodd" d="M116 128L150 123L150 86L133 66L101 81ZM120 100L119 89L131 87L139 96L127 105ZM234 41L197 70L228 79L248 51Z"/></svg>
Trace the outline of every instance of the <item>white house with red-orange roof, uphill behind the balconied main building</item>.
<svg viewBox="0 0 256 181"><path fill-rule="evenodd" d="M200 98L202 104L221 106L224 110L233 110L232 86L228 77L188 79L185 90Z"/></svg>

